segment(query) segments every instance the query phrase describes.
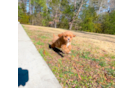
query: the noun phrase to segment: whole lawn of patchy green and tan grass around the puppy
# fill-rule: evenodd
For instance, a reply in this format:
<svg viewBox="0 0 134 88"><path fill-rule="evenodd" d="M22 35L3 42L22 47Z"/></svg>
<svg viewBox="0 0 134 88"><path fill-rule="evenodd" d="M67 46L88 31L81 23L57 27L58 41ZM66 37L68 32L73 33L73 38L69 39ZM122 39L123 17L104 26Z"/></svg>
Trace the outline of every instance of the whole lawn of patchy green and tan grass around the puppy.
<svg viewBox="0 0 134 88"><path fill-rule="evenodd" d="M75 32L72 53L61 57L48 44L64 29L23 25L62 88L114 88L115 36Z"/></svg>

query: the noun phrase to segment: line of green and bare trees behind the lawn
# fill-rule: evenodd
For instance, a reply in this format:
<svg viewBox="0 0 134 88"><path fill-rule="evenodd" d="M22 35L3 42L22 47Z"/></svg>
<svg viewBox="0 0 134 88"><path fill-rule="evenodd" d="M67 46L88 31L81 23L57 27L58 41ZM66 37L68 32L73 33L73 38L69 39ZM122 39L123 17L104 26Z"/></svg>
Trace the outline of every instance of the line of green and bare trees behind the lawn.
<svg viewBox="0 0 134 88"><path fill-rule="evenodd" d="M114 0L19 0L22 24L115 34ZM105 12L101 12L105 10Z"/></svg>

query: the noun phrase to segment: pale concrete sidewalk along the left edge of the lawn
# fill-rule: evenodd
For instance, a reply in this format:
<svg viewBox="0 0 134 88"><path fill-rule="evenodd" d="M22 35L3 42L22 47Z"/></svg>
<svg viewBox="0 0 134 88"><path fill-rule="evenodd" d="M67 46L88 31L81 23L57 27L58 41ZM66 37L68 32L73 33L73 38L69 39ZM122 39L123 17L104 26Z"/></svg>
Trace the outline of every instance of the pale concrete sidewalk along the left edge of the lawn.
<svg viewBox="0 0 134 88"><path fill-rule="evenodd" d="M18 88L62 88L19 22L18 68L28 71L28 81L24 86L20 85ZM25 75L24 72L19 71L18 74Z"/></svg>

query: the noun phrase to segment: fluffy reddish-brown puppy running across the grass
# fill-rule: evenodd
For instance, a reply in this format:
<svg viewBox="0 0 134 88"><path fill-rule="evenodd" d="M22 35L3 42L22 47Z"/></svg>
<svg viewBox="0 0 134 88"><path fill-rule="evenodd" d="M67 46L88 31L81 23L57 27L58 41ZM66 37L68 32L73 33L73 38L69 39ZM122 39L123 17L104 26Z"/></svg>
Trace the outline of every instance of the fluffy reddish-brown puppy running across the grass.
<svg viewBox="0 0 134 88"><path fill-rule="evenodd" d="M53 34L51 48L57 47L61 48L66 54L71 53L71 41L75 36L76 35L69 31L58 34L58 37Z"/></svg>

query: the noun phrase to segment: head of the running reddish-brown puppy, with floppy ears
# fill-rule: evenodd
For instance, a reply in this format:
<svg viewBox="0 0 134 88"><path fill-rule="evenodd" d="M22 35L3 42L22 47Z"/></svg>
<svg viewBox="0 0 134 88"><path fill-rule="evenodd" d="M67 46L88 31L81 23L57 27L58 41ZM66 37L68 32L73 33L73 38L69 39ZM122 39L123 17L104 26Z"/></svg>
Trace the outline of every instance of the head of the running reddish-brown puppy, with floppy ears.
<svg viewBox="0 0 134 88"><path fill-rule="evenodd" d="M76 35L74 35L72 32L64 32L58 35L60 38L63 38L64 41L66 42L71 42L72 38L75 37Z"/></svg>

